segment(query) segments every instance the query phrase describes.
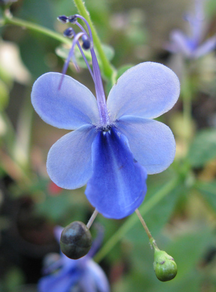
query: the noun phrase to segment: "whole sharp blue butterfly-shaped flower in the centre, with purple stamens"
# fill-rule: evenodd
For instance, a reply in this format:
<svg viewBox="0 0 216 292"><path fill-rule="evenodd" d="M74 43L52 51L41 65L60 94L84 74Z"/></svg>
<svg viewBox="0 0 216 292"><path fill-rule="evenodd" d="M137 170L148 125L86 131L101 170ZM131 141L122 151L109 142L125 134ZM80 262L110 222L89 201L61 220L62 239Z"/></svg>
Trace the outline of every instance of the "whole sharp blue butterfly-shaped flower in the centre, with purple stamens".
<svg viewBox="0 0 216 292"><path fill-rule="evenodd" d="M147 173L162 172L174 159L171 130L153 118L173 107L180 85L169 68L144 62L118 79L106 102L89 34L97 99L73 78L50 72L35 81L31 100L45 122L74 130L48 153L51 179L66 189L87 183L89 202L105 217L120 219L142 203Z"/></svg>

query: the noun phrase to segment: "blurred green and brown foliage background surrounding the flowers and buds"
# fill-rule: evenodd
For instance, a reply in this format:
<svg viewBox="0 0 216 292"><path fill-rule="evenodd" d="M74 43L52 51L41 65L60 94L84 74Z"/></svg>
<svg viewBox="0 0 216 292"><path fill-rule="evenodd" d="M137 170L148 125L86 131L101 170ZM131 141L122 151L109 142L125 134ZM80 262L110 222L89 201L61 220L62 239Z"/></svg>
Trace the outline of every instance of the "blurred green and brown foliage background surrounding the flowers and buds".
<svg viewBox="0 0 216 292"><path fill-rule="evenodd" d="M183 17L194 1L86 0L85 5L119 76L139 62L156 61L172 68L183 85L175 107L159 119L175 135L175 161L162 174L149 175L143 202L179 178L144 214L160 249L175 259L178 274L166 283L156 278L153 251L137 220L100 261L111 291L216 292L216 51L188 60L164 49L172 29L188 32ZM77 13L71 0L18 0L10 10L60 33L65 26L57 16ZM208 37L216 34L216 0L206 1L205 13ZM45 255L59 251L54 226L87 223L93 208L84 187L63 190L50 180L47 153L67 131L43 122L30 103L33 82L43 73L61 72L68 48L19 26L1 25L0 35L0 291L36 292ZM78 63L80 72L72 64L67 74L94 92L79 56ZM105 87L108 94L108 82ZM97 216L104 243L126 220Z"/></svg>

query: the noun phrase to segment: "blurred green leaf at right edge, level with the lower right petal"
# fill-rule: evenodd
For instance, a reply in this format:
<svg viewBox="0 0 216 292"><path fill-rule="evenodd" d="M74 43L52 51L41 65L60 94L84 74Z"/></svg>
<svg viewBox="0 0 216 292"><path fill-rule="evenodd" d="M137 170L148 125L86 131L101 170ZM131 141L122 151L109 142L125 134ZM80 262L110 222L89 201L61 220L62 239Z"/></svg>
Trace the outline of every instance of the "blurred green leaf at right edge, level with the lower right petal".
<svg viewBox="0 0 216 292"><path fill-rule="evenodd" d="M189 148L188 158L193 167L201 167L216 158L216 129L205 129L196 135Z"/></svg>

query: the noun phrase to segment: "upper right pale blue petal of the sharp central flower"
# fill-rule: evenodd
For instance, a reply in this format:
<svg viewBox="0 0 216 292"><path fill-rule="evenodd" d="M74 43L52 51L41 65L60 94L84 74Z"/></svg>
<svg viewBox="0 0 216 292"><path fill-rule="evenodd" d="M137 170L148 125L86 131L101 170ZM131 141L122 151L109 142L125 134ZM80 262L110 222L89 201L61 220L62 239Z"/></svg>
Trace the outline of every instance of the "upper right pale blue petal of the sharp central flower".
<svg viewBox="0 0 216 292"><path fill-rule="evenodd" d="M159 63L145 62L126 71L108 95L111 121L122 116L159 117L176 103L180 84L175 73Z"/></svg>

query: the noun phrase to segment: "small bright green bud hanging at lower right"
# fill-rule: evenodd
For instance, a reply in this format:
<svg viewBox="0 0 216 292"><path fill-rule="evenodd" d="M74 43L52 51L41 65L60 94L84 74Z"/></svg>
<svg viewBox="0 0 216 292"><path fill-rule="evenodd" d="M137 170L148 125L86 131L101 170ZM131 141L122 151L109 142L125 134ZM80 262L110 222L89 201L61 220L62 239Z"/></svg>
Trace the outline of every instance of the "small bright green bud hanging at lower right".
<svg viewBox="0 0 216 292"><path fill-rule="evenodd" d="M177 264L165 251L156 249L154 256L154 270L157 278L162 281L170 281L177 274Z"/></svg>

